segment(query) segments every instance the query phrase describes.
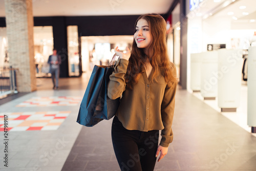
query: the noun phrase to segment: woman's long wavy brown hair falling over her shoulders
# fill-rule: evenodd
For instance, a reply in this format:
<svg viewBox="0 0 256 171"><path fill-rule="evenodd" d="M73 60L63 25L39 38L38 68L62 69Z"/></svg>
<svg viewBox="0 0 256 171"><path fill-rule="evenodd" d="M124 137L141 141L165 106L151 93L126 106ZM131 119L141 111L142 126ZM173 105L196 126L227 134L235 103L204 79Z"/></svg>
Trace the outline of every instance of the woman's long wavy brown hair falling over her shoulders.
<svg viewBox="0 0 256 171"><path fill-rule="evenodd" d="M135 38L133 39L131 57L125 74L126 88L133 89L133 86L138 83L139 77L143 72L142 68L148 60L154 68L152 81L157 81L156 76L161 72L160 67L163 67L164 72L162 74L165 81L169 87L172 87L174 83L177 83L177 78L173 75L173 65L171 65L167 55L165 20L159 14L144 14L137 19L135 29L140 19L145 19L150 27L152 44L148 47L146 55L144 49L138 48Z"/></svg>

